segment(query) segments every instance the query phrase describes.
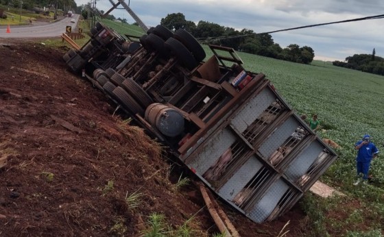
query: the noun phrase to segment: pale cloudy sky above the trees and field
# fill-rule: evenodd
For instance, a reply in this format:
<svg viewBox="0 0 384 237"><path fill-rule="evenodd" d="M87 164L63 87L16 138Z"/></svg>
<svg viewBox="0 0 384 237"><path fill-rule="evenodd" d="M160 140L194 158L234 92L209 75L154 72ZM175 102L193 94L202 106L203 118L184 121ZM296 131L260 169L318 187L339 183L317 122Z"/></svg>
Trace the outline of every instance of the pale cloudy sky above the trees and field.
<svg viewBox="0 0 384 237"><path fill-rule="evenodd" d="M78 6L95 0L75 0ZM117 0L112 0L117 3ZM148 27L160 24L168 14L182 13L187 21L217 23L256 33L384 14L381 0L125 0ZM96 0L99 10L112 8L108 0ZM116 18L134 23L126 10L113 10ZM354 54L384 58L384 18L323 25L271 34L285 48L296 44L315 51L315 60L344 61Z"/></svg>

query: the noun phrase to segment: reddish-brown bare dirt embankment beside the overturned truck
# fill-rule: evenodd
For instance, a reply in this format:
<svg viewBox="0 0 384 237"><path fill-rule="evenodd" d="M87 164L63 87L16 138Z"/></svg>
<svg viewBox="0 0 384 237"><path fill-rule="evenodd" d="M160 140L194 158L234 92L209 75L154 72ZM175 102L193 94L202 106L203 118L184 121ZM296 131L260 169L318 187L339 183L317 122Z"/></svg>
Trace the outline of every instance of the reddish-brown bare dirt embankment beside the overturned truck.
<svg viewBox="0 0 384 237"><path fill-rule="evenodd" d="M183 168L67 70L66 50L0 42L0 236L140 236L154 213L173 228L193 216L193 236L218 232L197 186L176 188ZM241 236L307 228L298 208L262 225L224 210Z"/></svg>

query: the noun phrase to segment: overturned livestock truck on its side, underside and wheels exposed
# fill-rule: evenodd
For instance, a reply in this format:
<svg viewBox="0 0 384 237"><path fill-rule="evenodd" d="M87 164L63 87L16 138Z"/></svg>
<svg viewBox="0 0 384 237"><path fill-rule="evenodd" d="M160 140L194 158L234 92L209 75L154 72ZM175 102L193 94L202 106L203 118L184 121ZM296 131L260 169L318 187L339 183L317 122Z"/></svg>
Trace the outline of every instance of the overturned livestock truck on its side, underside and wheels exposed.
<svg viewBox="0 0 384 237"><path fill-rule="evenodd" d="M125 40L97 23L63 59L256 223L287 212L337 158L228 47L158 25Z"/></svg>

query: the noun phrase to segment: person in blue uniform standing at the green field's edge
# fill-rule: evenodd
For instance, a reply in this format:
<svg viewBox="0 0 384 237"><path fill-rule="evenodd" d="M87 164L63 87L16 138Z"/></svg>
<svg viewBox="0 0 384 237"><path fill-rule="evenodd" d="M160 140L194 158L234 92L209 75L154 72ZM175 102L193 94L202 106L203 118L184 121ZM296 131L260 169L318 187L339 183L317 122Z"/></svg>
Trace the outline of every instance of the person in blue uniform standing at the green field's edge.
<svg viewBox="0 0 384 237"><path fill-rule="evenodd" d="M357 176L360 177L363 174L363 182L368 181L368 171L370 171L370 163L373 158L376 158L379 150L376 148L373 142L371 142L370 135L364 135L362 140L359 140L355 144L357 151ZM361 182L361 179L357 179L354 185Z"/></svg>

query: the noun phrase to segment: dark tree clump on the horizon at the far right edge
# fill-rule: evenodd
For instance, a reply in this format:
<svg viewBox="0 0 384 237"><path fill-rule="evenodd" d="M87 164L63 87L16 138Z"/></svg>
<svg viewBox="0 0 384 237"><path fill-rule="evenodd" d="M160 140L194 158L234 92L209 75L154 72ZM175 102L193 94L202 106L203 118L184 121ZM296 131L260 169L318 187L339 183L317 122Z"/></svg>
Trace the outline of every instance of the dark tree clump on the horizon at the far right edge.
<svg viewBox="0 0 384 237"><path fill-rule="evenodd" d="M376 56L375 49L373 49L372 54L355 54L347 57L344 62L335 61L332 64L365 73L384 75L384 58Z"/></svg>

